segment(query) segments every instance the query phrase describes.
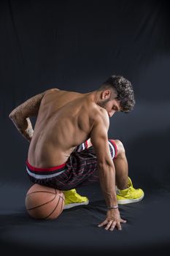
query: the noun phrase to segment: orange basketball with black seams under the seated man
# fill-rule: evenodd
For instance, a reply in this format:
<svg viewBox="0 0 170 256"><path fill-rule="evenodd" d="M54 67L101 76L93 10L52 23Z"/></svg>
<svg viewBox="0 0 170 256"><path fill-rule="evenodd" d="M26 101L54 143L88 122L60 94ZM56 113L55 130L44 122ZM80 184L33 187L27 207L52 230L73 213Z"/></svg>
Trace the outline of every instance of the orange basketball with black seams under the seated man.
<svg viewBox="0 0 170 256"><path fill-rule="evenodd" d="M35 219L56 219L63 211L63 192L34 184L26 194L26 210Z"/></svg>

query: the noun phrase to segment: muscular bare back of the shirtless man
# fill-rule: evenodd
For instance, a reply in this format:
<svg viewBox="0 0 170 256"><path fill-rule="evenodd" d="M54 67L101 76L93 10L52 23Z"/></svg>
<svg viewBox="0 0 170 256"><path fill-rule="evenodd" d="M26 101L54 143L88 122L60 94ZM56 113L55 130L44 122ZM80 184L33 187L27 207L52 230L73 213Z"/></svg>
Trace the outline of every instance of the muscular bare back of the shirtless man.
<svg viewBox="0 0 170 256"><path fill-rule="evenodd" d="M93 116L99 109L90 93L47 91L39 107L28 162L37 167L66 162L74 148L90 137Z"/></svg>

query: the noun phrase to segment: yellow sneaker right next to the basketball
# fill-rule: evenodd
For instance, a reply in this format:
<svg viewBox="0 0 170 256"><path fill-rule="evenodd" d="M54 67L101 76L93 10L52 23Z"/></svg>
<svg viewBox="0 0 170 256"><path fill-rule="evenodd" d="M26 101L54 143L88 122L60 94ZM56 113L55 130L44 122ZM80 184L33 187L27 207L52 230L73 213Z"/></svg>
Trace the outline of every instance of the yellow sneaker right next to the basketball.
<svg viewBox="0 0 170 256"><path fill-rule="evenodd" d="M82 206L88 205L88 197L82 197L81 195L77 194L76 189L66 190L63 191L65 196L65 205L63 209L69 209L74 206Z"/></svg>

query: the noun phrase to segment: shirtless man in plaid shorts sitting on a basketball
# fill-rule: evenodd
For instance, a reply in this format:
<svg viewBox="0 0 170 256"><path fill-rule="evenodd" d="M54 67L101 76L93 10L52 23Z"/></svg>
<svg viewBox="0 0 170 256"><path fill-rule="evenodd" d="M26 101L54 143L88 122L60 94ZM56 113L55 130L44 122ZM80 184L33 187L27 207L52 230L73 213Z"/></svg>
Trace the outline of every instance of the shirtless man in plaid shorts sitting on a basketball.
<svg viewBox="0 0 170 256"><path fill-rule="evenodd" d="M144 197L128 177L123 143L108 139L109 118L119 111L128 113L134 104L131 83L112 75L85 94L49 89L9 114L30 141L26 167L31 181L63 192L100 181L107 216L98 227L106 230L121 230L121 223L126 222L117 203L134 203ZM31 116L36 116L34 130Z"/></svg>

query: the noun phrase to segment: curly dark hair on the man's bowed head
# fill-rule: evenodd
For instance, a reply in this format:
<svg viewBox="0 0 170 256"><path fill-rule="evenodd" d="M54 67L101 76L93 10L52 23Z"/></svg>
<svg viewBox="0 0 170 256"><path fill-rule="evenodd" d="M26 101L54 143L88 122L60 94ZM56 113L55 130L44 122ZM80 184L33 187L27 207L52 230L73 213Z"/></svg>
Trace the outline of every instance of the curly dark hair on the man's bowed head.
<svg viewBox="0 0 170 256"><path fill-rule="evenodd" d="M131 85L131 82L123 78L122 75L112 75L109 77L101 86L98 88L98 91L104 89L114 89L117 96L115 99L120 100L121 111L128 113L134 109L135 99L134 99L134 90Z"/></svg>

